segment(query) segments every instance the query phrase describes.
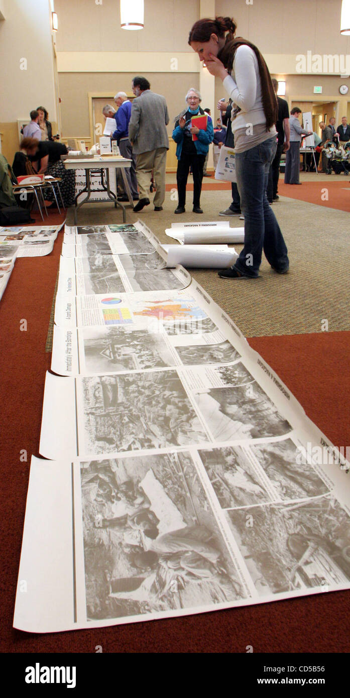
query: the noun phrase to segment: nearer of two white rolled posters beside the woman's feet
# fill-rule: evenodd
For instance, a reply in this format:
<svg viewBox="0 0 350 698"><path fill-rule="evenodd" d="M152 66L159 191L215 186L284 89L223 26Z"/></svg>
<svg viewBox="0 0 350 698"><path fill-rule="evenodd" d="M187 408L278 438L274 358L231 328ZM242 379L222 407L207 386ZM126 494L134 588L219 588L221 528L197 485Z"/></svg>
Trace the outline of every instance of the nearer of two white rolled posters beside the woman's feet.
<svg viewBox="0 0 350 698"><path fill-rule="evenodd" d="M234 248L224 252L218 250L194 249L183 245L168 245L168 268L181 264L194 269L226 269L234 264L238 253Z"/></svg>

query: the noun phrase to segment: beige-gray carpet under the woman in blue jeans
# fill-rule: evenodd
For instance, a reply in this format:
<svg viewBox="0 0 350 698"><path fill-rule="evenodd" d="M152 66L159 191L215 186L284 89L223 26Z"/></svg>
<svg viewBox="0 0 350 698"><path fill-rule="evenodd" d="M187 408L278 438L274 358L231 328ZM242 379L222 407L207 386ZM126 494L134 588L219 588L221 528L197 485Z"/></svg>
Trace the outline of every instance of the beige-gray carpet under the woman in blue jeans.
<svg viewBox="0 0 350 698"><path fill-rule="evenodd" d="M175 216L177 202L170 196L166 192L160 212L154 211L152 203L139 214L128 207L127 222L140 218L160 242L175 243L164 232L172 222L220 220L218 212L231 202L230 191L203 191L204 214L198 216L192 213L189 192L188 212ZM256 280L219 279L212 270L190 270L192 276L231 315L245 336L321 332L323 320L328 320L330 332L349 330L349 214L283 197L273 205L273 211L289 248L289 274L276 274L263 257L261 277ZM66 223L74 225L73 209L68 209ZM111 204L99 204L78 212L79 225L100 223L122 223L122 211ZM244 223L235 217L230 218L230 225ZM239 252L242 246L235 248Z"/></svg>

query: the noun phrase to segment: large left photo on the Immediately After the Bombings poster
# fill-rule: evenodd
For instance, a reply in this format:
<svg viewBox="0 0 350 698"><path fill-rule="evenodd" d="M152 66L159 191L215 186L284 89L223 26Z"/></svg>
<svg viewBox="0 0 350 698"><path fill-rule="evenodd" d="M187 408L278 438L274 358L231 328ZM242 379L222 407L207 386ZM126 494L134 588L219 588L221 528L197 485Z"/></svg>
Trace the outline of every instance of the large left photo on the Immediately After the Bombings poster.
<svg viewBox="0 0 350 698"><path fill-rule="evenodd" d="M87 373L133 371L175 366L173 354L159 332L129 327L82 329Z"/></svg>

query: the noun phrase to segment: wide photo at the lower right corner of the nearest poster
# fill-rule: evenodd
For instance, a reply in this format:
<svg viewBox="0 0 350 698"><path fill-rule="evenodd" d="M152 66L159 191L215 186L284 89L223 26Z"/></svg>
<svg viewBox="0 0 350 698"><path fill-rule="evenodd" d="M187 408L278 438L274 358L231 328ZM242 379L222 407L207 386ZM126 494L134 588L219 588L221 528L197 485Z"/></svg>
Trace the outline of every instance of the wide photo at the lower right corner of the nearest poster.
<svg viewBox="0 0 350 698"><path fill-rule="evenodd" d="M225 516L261 595L349 581L350 518L331 496Z"/></svg>

